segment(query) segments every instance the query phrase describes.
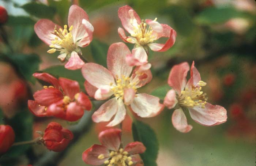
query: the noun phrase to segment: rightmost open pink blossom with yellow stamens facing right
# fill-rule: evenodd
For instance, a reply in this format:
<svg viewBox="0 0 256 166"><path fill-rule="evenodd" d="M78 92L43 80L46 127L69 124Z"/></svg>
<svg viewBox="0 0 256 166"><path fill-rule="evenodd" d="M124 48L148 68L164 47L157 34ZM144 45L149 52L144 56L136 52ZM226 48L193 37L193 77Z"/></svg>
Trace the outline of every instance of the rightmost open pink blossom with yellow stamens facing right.
<svg viewBox="0 0 256 166"><path fill-rule="evenodd" d="M173 126L184 133L192 129L183 112L185 108L188 108L191 118L201 125L214 126L226 122L226 109L206 102L206 94L201 91L202 86L206 86L206 83L201 80L200 73L194 67L194 62L191 65L190 79L187 82L188 71L187 62L174 65L168 78L168 84L173 89L168 91L163 103L169 109L176 106L172 115Z"/></svg>

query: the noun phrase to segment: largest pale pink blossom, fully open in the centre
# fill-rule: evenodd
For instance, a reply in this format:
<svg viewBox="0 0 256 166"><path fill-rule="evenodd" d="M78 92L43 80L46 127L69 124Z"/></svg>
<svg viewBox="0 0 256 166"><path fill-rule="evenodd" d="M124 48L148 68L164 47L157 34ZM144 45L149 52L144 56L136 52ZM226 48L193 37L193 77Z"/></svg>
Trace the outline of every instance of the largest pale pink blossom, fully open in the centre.
<svg viewBox="0 0 256 166"><path fill-rule="evenodd" d="M125 55L129 53L131 52L124 43L114 43L108 50L108 69L95 63L84 64L82 74L86 79L87 93L97 100L105 100L114 95L114 98L94 112L94 122L110 121L115 115L107 126L119 124L125 118L125 105L140 117L156 116L163 109L158 97L145 93L136 94L137 88L151 81L152 74L149 69L142 69L143 66L136 67L132 72L132 67L125 62Z"/></svg>

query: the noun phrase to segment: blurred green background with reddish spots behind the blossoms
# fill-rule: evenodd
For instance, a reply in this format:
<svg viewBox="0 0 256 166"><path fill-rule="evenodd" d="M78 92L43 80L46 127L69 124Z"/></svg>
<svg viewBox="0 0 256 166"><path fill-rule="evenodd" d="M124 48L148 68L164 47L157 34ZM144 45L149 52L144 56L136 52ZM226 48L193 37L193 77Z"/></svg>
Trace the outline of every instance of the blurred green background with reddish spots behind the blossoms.
<svg viewBox="0 0 256 166"><path fill-rule="evenodd" d="M7 9L8 22L1 25L0 40L0 107L1 123L10 124L16 142L37 137L50 121L74 127L54 118L38 118L27 109L27 99L42 88L33 77L36 71L75 79L84 90L79 70L65 70L57 53L48 54L49 47L34 33L40 18L67 24L69 6L79 4L94 26L94 40L82 49L89 61L106 65L108 46L122 42L117 28L122 27L118 8L130 5L141 19L158 18L159 23L177 31L176 43L166 52L150 52L153 80L139 92L153 93L161 99L169 86L167 77L174 64L195 60L208 101L227 109L227 122L204 127L185 112L189 133L180 133L171 122L173 110L165 109L154 118L141 121L149 124L159 142L158 166L253 166L255 165L256 110L256 3L254 0L0 0ZM132 45L129 45L132 48ZM87 112L86 112L87 114ZM3 119L3 120L2 120ZM82 152L99 144L97 134L106 124L91 123L90 128L67 149L58 166L86 166ZM123 142L132 142L131 121L124 124ZM150 136L148 136L150 139ZM14 166L37 163L54 153L39 145L11 148L0 158L0 165Z"/></svg>

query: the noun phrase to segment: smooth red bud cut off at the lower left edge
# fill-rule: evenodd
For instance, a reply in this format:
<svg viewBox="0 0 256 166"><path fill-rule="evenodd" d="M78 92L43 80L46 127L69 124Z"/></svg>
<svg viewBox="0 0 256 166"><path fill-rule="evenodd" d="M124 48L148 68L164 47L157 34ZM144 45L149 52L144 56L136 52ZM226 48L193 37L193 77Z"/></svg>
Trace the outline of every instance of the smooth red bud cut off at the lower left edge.
<svg viewBox="0 0 256 166"><path fill-rule="evenodd" d="M14 143L15 134L11 126L0 125L0 155L8 151Z"/></svg>

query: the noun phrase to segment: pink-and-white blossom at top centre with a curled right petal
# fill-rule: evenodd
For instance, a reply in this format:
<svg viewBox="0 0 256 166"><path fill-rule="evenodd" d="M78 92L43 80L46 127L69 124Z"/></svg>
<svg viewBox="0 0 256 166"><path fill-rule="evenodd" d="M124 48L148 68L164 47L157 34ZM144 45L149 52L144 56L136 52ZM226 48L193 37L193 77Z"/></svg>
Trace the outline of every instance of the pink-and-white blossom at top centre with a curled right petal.
<svg viewBox="0 0 256 166"><path fill-rule="evenodd" d="M126 36L124 29L118 28L118 34L125 42L135 44L132 53L126 61L129 65L143 65L147 63L149 48L153 51L164 52L171 48L176 39L176 31L167 24L160 24L154 20L141 20L138 14L128 5L118 10L118 17L130 36ZM165 44L155 43L161 37L168 38Z"/></svg>

